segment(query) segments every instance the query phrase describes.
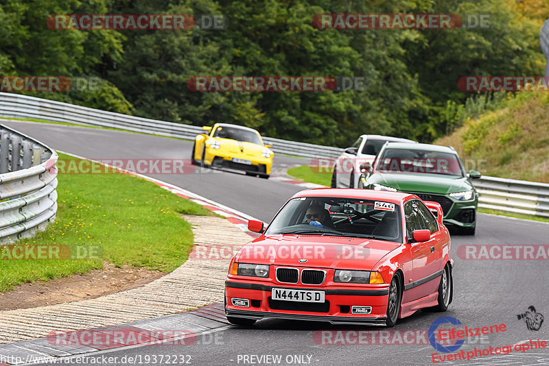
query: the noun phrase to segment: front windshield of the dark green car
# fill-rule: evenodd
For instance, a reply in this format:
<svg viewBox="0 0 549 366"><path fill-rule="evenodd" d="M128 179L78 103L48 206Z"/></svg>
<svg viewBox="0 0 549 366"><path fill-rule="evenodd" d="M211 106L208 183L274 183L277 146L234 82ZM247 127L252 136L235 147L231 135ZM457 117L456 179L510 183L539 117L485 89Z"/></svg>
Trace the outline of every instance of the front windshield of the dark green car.
<svg viewBox="0 0 549 366"><path fill-rule="evenodd" d="M379 173L428 173L463 177L456 154L416 149L385 149L375 162Z"/></svg>

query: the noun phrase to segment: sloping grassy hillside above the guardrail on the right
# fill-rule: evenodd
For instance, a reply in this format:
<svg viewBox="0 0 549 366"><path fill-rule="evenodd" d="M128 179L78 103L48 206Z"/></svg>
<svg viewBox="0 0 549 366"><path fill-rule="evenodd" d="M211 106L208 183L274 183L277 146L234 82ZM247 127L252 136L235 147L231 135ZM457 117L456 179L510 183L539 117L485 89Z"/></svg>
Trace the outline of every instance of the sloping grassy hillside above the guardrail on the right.
<svg viewBox="0 0 549 366"><path fill-rule="evenodd" d="M548 183L548 114L548 93L517 93L505 101L504 108L468 119L434 143L454 146L467 171Z"/></svg>

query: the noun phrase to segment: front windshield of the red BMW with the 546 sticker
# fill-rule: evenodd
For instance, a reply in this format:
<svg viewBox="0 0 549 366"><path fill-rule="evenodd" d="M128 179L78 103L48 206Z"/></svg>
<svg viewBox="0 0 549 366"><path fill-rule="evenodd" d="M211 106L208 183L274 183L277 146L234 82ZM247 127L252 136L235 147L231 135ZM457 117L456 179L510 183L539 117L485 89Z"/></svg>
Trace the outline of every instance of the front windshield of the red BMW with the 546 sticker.
<svg viewBox="0 0 549 366"><path fill-rule="evenodd" d="M402 240L400 206L347 197L290 199L265 234L318 234L385 241Z"/></svg>

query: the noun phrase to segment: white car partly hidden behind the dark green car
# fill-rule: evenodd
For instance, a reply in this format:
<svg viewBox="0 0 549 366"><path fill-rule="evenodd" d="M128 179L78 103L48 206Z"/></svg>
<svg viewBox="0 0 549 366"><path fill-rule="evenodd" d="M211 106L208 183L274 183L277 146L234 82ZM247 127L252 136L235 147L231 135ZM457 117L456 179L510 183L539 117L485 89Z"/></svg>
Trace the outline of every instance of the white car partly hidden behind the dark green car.
<svg viewBox="0 0 549 366"><path fill-rule="evenodd" d="M331 188L357 188L360 179L360 164L373 162L375 156L387 142L415 143L407 138L381 135L361 135L351 147L347 147L336 159L331 176Z"/></svg>

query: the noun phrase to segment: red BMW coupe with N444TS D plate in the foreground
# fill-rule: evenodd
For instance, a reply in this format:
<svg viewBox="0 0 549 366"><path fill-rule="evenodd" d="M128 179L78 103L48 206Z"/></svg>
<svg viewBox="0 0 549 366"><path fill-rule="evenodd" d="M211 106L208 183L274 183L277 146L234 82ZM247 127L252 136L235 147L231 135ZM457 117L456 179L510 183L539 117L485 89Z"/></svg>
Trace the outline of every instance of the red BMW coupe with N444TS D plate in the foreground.
<svg viewBox="0 0 549 366"><path fill-rule="evenodd" d="M296 193L231 260L225 312L250 326L275 317L392 327L452 302L450 236L436 202L388 191Z"/></svg>

